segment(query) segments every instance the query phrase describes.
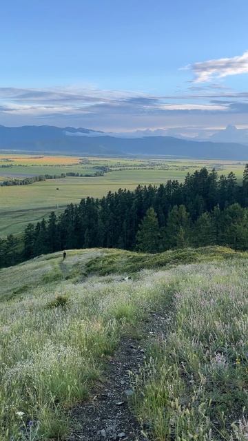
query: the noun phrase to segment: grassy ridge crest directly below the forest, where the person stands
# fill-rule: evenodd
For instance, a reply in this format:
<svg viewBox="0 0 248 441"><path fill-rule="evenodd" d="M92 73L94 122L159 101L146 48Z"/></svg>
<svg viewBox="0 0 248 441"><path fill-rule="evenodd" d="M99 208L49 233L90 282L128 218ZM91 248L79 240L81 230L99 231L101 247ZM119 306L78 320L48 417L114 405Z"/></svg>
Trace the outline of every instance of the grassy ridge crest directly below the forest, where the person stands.
<svg viewBox="0 0 248 441"><path fill-rule="evenodd" d="M108 274L130 275L141 269L160 269L183 263L248 258L247 252L234 252L226 247L176 249L160 254L128 252L122 249L68 250L65 262L62 252L38 256L15 267L0 269L0 300L10 300L19 292L28 294L44 283L71 280L76 283L87 276ZM28 277L27 277L28 274ZM11 283L9 283L11 280Z"/></svg>

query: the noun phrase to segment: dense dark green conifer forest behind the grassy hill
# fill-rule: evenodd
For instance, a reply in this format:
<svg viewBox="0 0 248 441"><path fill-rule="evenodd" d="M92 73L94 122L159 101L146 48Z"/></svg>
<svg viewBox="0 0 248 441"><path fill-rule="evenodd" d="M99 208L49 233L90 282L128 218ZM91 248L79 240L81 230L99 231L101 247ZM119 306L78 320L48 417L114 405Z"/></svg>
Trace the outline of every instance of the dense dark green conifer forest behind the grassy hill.
<svg viewBox="0 0 248 441"><path fill-rule="evenodd" d="M0 267L62 249L107 247L140 252L225 245L248 249L248 164L242 183L202 168L184 183L119 189L70 204L30 223L21 238L0 238Z"/></svg>

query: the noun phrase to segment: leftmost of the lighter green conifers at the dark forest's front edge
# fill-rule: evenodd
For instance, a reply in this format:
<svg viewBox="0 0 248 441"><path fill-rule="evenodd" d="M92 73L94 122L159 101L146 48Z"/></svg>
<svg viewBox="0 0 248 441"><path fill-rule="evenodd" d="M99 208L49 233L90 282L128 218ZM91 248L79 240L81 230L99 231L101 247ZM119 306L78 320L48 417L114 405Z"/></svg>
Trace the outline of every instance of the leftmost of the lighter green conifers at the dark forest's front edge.
<svg viewBox="0 0 248 441"><path fill-rule="evenodd" d="M159 249L160 229L154 208L147 209L136 234L136 248L146 253L156 253Z"/></svg>

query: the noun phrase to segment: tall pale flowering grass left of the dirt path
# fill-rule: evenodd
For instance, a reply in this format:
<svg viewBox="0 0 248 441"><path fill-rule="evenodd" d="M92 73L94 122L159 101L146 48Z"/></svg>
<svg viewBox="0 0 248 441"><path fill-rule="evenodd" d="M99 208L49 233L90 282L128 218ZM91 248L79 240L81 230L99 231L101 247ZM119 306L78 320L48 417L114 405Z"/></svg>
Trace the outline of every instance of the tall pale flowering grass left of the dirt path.
<svg viewBox="0 0 248 441"><path fill-rule="evenodd" d="M2 302L1 441L68 433L70 408L101 379L121 335L165 297L168 280L161 273L131 283L119 276L76 284L47 281Z"/></svg>

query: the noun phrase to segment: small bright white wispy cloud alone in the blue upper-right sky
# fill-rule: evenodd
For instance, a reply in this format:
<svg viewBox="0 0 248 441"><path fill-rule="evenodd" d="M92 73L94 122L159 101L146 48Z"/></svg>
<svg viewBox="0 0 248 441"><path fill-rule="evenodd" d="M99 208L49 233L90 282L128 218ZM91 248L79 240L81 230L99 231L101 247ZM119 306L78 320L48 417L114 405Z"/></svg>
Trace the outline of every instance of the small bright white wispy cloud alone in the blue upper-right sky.
<svg viewBox="0 0 248 441"><path fill-rule="evenodd" d="M248 50L232 58L220 58L193 63L186 66L195 74L194 83L206 83L213 78L248 73Z"/></svg>

